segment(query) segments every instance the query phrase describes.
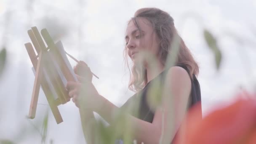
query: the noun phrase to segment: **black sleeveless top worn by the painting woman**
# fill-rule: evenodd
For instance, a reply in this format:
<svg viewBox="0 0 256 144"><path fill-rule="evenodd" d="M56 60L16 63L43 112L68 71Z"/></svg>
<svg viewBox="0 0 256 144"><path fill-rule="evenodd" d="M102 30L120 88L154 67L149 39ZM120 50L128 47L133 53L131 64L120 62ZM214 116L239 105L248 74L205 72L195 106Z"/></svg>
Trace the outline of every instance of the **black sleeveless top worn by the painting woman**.
<svg viewBox="0 0 256 144"><path fill-rule="evenodd" d="M184 68L189 73L189 70L187 69L186 66L181 64L177 64L176 66ZM153 80L147 83L147 85L141 91L139 91L138 93L135 93L130 99L128 99L128 101L126 101L126 103L123 104L121 109L127 110L127 108L130 106L130 111L128 111L129 114L141 120L152 123L155 112L152 108L150 108L150 104L149 104L150 100L148 100L148 98L149 98L149 95L152 93L153 94L151 96L154 96L154 95L161 96L161 92L162 92L161 86L163 86L164 84L164 81L165 81L164 78L167 72L168 72L168 69L165 69L163 72L157 75L157 77L155 77ZM153 85L153 83L157 83L157 85ZM151 88L153 88L153 91L150 90ZM191 92L189 96L188 109L192 107L194 104L196 104L198 101L201 101L200 84L196 76L193 75L193 79L191 79ZM134 106L137 106L137 107L134 107ZM201 114L202 114L202 109L201 109Z"/></svg>

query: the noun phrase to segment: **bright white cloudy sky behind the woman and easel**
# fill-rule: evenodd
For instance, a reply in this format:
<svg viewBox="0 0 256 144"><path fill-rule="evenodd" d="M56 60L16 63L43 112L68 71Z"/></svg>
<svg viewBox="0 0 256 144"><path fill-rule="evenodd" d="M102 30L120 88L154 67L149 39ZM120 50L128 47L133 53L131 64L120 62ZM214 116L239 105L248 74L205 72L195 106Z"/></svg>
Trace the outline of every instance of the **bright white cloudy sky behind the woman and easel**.
<svg viewBox="0 0 256 144"><path fill-rule="evenodd" d="M32 5L27 3L33 1ZM49 107L38 105L36 118L25 118L35 77L24 43L30 42L27 30L34 26L47 28L53 36L61 32L59 40L66 51L89 65L100 77L93 78L99 93L117 106L133 94L127 88L129 72L123 62L126 22L143 7L157 7L173 16L176 28L200 65L203 115L219 104L235 100L240 87L251 92L256 88L256 0L77 1L0 0L0 45L5 35L8 53L7 66L0 78L0 139L21 135L20 144L41 140L31 123L41 129ZM223 54L219 72L203 39L203 28L209 29L218 40ZM75 65L72 59L70 62ZM42 91L38 103L47 104ZM49 111L47 142L50 139L54 144L83 142L75 104L61 105L59 110L64 120L59 125Z"/></svg>

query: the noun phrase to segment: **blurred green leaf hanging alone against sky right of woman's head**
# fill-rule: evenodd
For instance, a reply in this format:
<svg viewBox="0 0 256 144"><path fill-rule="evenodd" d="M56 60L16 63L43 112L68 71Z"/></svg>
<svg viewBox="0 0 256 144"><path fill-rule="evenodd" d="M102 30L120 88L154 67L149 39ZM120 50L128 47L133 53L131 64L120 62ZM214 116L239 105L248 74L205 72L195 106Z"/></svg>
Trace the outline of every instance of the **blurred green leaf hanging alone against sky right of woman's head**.
<svg viewBox="0 0 256 144"><path fill-rule="evenodd" d="M216 38L214 38L211 32L209 32L207 29L204 29L203 34L204 34L206 43L214 53L216 68L217 70L219 70L222 55L221 55L221 51L219 50L219 46L217 45Z"/></svg>

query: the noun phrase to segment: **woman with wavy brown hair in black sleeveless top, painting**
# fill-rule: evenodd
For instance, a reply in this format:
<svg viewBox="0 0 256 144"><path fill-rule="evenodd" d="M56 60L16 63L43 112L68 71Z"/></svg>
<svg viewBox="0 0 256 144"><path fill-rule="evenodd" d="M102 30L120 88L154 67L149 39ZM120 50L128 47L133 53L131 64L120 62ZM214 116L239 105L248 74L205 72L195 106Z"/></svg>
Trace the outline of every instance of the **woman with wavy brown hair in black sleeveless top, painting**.
<svg viewBox="0 0 256 144"><path fill-rule="evenodd" d="M142 8L128 21L125 58L131 58L129 89L134 94L121 108L101 96L91 83L90 68L83 61L74 68L80 82L68 82L69 96L80 107L97 112L115 125L113 112L130 122L133 138L141 144L171 143L187 112L201 100L198 66L174 27L173 18L158 8ZM82 108L83 107L83 108ZM123 133L121 133L123 134Z"/></svg>

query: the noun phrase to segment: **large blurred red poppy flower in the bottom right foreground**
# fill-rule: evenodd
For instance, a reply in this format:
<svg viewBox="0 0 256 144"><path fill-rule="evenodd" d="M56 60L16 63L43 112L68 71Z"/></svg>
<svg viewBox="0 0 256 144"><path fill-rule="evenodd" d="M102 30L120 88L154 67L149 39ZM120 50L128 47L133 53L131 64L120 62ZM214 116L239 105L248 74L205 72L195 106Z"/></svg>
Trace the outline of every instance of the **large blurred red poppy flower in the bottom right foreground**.
<svg viewBox="0 0 256 144"><path fill-rule="evenodd" d="M190 109L174 144L256 144L256 94L198 117L201 104ZM253 99L254 98L254 99Z"/></svg>

